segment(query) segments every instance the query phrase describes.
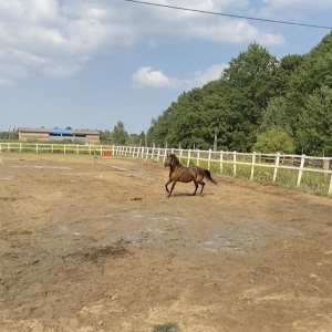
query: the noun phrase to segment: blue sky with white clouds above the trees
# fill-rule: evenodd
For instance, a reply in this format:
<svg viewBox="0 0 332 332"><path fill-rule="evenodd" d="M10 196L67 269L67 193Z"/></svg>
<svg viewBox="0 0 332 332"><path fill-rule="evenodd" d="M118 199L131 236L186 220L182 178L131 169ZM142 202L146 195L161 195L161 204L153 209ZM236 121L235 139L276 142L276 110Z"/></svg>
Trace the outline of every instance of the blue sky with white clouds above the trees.
<svg viewBox="0 0 332 332"><path fill-rule="evenodd" d="M141 134L250 43L280 59L331 31L243 17L332 27L332 1L0 0L0 132L121 121Z"/></svg>

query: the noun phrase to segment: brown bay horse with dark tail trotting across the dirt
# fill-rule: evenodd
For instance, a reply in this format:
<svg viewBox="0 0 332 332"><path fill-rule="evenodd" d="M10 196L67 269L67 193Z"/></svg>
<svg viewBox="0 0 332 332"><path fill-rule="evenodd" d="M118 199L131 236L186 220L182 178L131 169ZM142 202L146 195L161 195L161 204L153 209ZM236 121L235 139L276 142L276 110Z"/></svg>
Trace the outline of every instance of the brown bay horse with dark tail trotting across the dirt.
<svg viewBox="0 0 332 332"><path fill-rule="evenodd" d="M203 181L204 177L206 177L212 184L217 185L216 180L212 179L211 173L208 169L201 168L199 166L185 167L179 163L175 154L167 155L164 166L169 167L169 179L165 185L166 191L168 193L167 197L170 197L177 181L180 183L194 181L195 191L193 196L196 195L198 185L201 186L200 195L203 195L203 189L205 186L205 183ZM168 190L168 185L170 183L173 184L170 190Z"/></svg>

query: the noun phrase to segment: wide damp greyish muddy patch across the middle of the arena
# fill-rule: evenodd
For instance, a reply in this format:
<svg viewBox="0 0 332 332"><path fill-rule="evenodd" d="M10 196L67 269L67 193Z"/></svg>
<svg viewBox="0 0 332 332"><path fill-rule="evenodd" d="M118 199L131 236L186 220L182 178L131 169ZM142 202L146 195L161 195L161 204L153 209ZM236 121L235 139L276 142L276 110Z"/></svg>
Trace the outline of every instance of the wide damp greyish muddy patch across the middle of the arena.
<svg viewBox="0 0 332 332"><path fill-rule="evenodd" d="M106 246L121 236L132 246L155 246L165 250L181 250L191 253L193 251L205 250L211 253L245 255L247 250L264 246L272 237L301 237L304 235L298 229L257 220L220 221L219 226L193 234L190 229L187 229L190 227L188 220L184 218L169 215L167 217L153 216L142 211L97 215L81 220L82 227L85 222L89 224L93 220L102 220L108 229L112 229L113 222L121 221L122 225L120 228L115 227L114 231L103 234L100 237L96 236L100 245ZM84 235L77 227L72 229L68 225L58 226L56 232L63 236Z"/></svg>

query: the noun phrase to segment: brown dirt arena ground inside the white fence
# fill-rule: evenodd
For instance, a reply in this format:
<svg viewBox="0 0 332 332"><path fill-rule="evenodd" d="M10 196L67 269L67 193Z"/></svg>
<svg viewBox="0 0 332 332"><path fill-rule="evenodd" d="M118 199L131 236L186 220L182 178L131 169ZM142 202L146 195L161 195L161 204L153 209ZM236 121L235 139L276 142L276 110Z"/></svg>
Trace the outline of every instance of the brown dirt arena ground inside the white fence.
<svg viewBox="0 0 332 332"><path fill-rule="evenodd" d="M332 331L332 199L97 162L3 154L1 332Z"/></svg>

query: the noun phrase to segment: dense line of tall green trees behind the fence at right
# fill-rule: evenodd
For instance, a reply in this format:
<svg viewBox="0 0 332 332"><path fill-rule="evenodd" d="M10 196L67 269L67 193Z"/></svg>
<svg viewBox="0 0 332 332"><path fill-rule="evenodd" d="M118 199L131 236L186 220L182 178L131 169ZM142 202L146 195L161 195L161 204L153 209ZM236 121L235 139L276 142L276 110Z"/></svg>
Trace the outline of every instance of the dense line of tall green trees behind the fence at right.
<svg viewBox="0 0 332 332"><path fill-rule="evenodd" d="M178 96L152 121L156 145L332 156L332 32L282 59L252 43L220 79ZM277 136L277 137L276 137ZM266 144L269 141L278 145ZM287 147L286 147L287 146Z"/></svg>

